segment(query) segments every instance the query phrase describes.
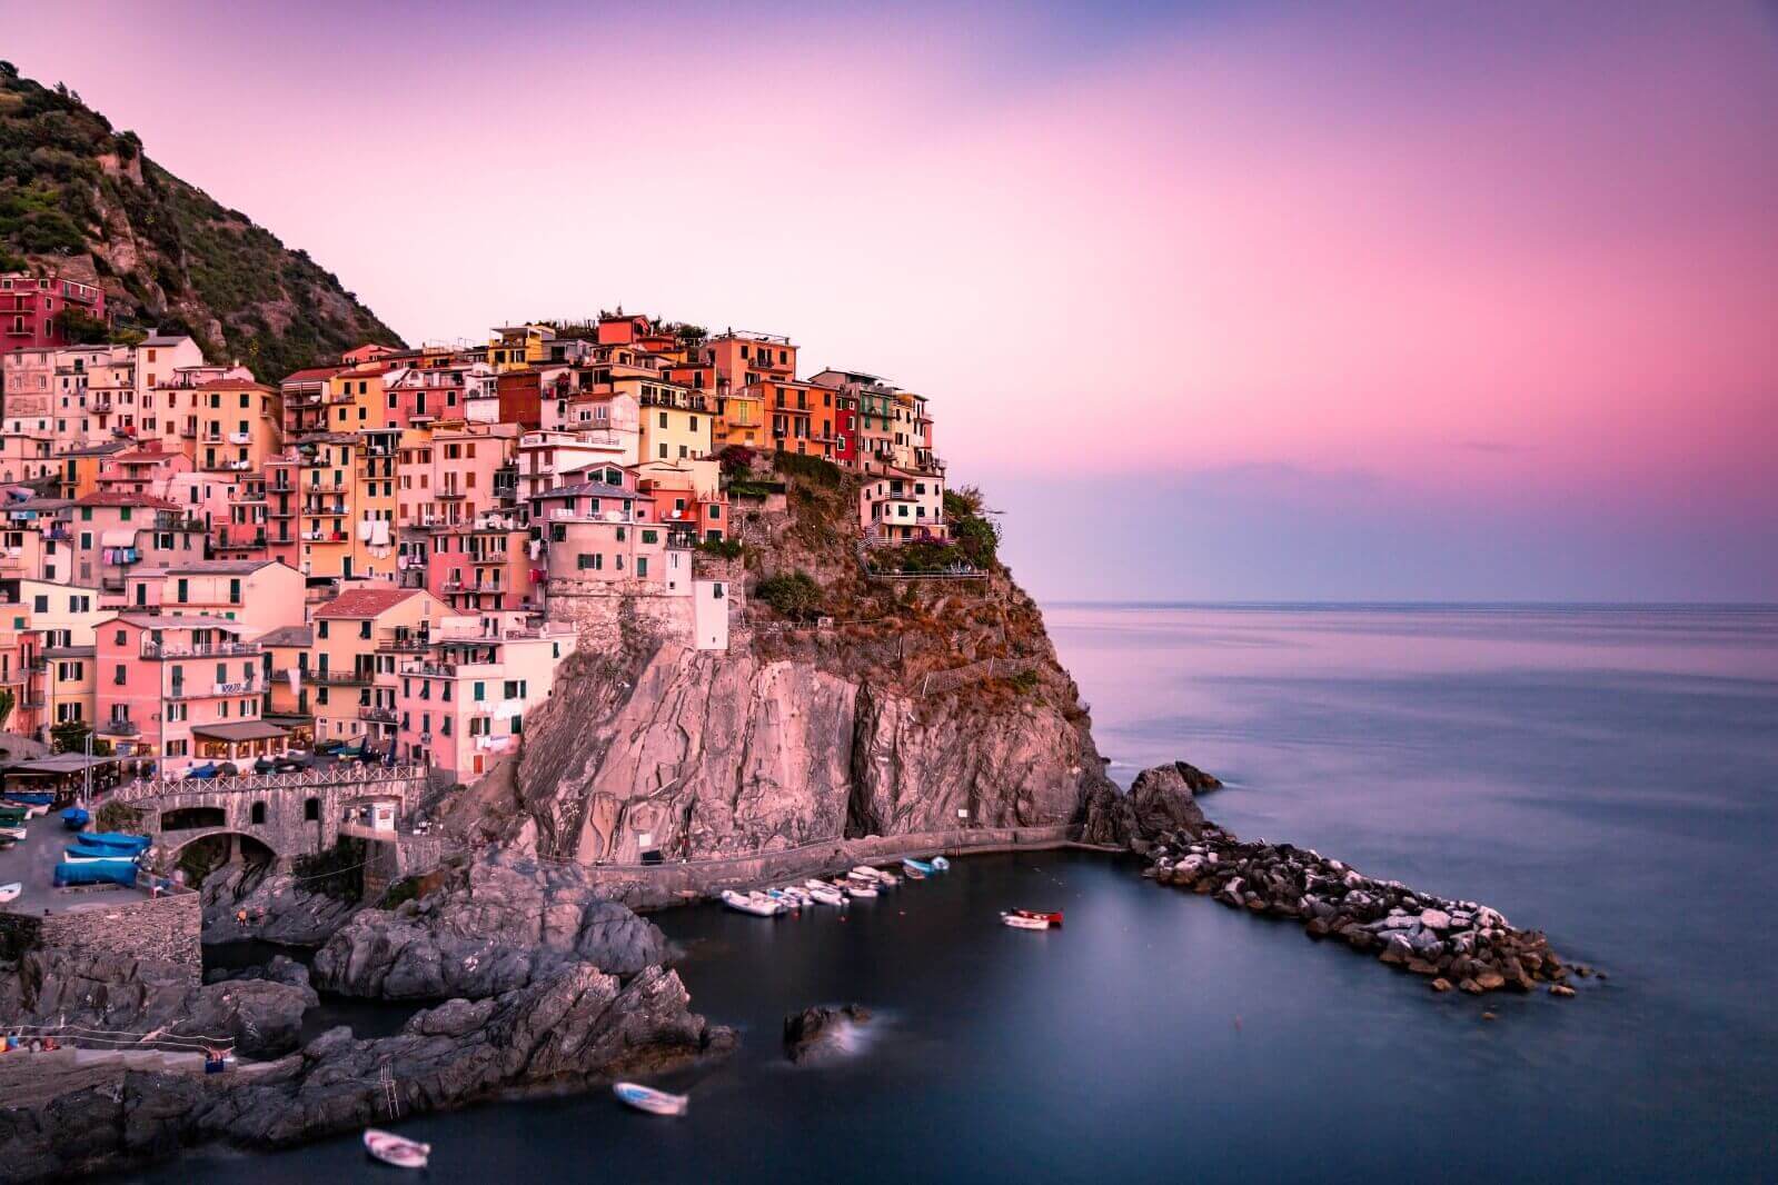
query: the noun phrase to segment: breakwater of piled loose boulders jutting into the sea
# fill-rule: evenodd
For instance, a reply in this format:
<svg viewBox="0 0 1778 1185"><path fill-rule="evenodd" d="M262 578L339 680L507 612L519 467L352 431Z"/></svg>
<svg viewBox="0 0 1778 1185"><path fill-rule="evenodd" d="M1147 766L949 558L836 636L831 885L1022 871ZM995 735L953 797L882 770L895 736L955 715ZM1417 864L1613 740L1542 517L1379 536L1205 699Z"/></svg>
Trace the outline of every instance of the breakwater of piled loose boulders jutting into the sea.
<svg viewBox="0 0 1778 1185"><path fill-rule="evenodd" d="M1133 828L1127 842L1152 858L1143 874L1161 885L1293 919L1310 938L1337 938L1426 975L1435 991L1531 991L1568 977L1543 933L1518 929L1485 904L1369 878L1309 847L1243 842L1204 819L1177 766L1143 771L1129 799L1120 819Z"/></svg>

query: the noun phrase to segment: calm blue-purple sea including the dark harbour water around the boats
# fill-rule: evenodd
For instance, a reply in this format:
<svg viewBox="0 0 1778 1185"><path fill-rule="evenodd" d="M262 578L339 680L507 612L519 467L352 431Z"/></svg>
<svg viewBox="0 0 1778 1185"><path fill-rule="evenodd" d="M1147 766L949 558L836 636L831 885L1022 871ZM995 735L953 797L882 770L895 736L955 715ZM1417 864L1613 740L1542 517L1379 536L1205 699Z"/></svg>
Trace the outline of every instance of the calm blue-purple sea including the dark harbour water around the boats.
<svg viewBox="0 0 1778 1185"><path fill-rule="evenodd" d="M1085 855L981 856L832 911L665 913L743 1030L669 1082L402 1123L494 1180L1773 1180L1778 611L1085 608L1049 625L1127 782L1184 757L1241 835L1478 897L1606 968L1577 1000L1435 997ZM1019 933L1001 908L1065 908ZM779 1050L861 1000L864 1048ZM1499 1018L1483 1022L1483 1007ZM162 1181L384 1176L354 1141Z"/></svg>

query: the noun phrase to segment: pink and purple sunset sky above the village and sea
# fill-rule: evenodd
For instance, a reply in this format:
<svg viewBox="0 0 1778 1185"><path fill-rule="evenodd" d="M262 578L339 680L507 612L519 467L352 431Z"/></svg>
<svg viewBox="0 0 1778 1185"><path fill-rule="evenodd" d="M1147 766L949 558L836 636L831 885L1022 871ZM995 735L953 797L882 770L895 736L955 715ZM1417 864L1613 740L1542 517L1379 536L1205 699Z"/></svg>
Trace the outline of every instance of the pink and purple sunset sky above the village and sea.
<svg viewBox="0 0 1778 1185"><path fill-rule="evenodd" d="M926 393L1045 597L1778 599L1778 9L82 4L7 27L409 341Z"/></svg>

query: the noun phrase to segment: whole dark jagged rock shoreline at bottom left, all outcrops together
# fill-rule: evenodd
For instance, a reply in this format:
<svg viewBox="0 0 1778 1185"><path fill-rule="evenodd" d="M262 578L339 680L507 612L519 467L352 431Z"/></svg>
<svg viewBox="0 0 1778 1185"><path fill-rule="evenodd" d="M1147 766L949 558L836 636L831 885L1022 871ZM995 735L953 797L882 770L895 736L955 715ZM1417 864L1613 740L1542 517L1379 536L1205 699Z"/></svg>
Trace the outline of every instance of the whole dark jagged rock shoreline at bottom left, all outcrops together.
<svg viewBox="0 0 1778 1185"><path fill-rule="evenodd" d="M233 904L238 876L224 881ZM332 924L313 972L292 959L174 986L144 959L32 950L0 975L14 1018L153 1034L229 1036L244 1055L203 1075L20 1054L0 1071L0 1180L119 1171L199 1142L281 1148L510 1093L571 1091L720 1057L734 1034L690 1011L665 934L603 901L578 867L489 855L396 910L334 911L254 887L279 934ZM315 910L329 913L316 919ZM284 917L288 913L290 917ZM228 934L233 938L235 934ZM183 972L180 972L183 974ZM331 1029L295 1048L315 988L430 1002L395 1036Z"/></svg>

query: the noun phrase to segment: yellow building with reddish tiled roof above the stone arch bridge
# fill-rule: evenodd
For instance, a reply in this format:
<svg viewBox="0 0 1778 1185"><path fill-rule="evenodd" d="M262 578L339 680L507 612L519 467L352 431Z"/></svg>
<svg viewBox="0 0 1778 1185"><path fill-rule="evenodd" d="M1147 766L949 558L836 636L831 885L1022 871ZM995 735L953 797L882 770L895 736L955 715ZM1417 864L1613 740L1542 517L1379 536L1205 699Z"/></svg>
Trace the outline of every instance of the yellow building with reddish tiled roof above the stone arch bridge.
<svg viewBox="0 0 1778 1185"><path fill-rule="evenodd" d="M430 636L450 616L420 588L352 588L315 609L309 680L316 741L393 736L398 638ZM373 725L379 725L375 730Z"/></svg>

